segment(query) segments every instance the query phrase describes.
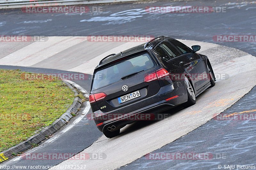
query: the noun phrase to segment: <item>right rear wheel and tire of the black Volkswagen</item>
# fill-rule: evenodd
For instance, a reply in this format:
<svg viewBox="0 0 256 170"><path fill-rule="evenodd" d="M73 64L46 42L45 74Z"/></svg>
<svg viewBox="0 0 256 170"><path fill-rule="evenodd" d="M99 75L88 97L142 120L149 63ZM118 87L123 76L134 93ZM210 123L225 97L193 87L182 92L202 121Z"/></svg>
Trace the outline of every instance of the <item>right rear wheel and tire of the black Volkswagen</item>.
<svg viewBox="0 0 256 170"><path fill-rule="evenodd" d="M188 101L186 103L183 103L183 107L187 108L189 106L196 104L196 96L195 96L193 85L188 80L188 77L185 76L184 79L185 79L185 87L188 94Z"/></svg>

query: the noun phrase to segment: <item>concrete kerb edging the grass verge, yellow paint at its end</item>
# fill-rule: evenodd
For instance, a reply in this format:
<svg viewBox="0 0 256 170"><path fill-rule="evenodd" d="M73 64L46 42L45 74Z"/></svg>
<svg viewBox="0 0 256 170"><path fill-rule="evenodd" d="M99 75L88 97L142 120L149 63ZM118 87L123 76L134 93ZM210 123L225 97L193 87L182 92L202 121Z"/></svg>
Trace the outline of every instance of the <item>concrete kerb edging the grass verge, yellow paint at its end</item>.
<svg viewBox="0 0 256 170"><path fill-rule="evenodd" d="M65 113L63 113L60 116L60 118L55 120L51 125L45 127L39 133L33 135L32 137L28 138L27 140L21 142L20 144L1 152L0 153L0 163L9 159L10 157L12 157L13 156L12 153L17 154L18 152L23 152L23 151L31 148L31 146L33 144L40 143L41 141L43 141L45 139L46 136L49 136L49 135L55 133L61 127L63 127L66 123L68 123L68 121L73 117L72 114L76 114L76 112L82 106L82 103L83 103L82 99L78 96L78 92L81 92L84 94L85 90L81 86L74 83L73 81L68 81L68 82L64 81L64 80L62 80L62 81L70 89L72 89L72 91L74 92L74 96L75 96L75 99L74 99L73 103L71 104L71 106L68 108L68 110ZM72 85L70 83L72 83ZM78 88L74 88L73 86L78 87ZM76 91L76 89L77 89L77 91ZM86 94L87 94L87 92L86 92Z"/></svg>

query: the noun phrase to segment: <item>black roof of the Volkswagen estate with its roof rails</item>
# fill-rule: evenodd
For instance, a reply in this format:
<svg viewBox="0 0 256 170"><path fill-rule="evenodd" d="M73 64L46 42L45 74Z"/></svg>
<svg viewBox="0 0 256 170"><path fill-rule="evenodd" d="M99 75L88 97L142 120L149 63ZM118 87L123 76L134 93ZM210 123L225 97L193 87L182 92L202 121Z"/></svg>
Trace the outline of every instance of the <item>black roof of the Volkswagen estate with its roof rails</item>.
<svg viewBox="0 0 256 170"><path fill-rule="evenodd" d="M110 55L108 57L106 57L106 59L102 59L99 63L99 65L97 67L95 67L95 69L98 69L99 67L102 67L102 66L105 66L107 65L108 63L112 62L112 61L115 61L115 60L119 60L119 59L122 59L128 55L131 55L131 54L134 54L134 53L139 53L139 52L142 52L142 51L147 51L149 50L148 47L155 47L158 43L160 43L161 41L163 41L164 39L169 39L169 37L164 37L164 36L161 36L161 37L156 37L155 40L153 41L149 41L147 42L148 43L148 46L146 48L144 48L145 44L147 43L143 43L143 44L140 44L138 46L134 46L132 48L129 48L125 51L122 51L122 53L117 53L117 54L113 54L113 55ZM150 48L151 49L151 48Z"/></svg>

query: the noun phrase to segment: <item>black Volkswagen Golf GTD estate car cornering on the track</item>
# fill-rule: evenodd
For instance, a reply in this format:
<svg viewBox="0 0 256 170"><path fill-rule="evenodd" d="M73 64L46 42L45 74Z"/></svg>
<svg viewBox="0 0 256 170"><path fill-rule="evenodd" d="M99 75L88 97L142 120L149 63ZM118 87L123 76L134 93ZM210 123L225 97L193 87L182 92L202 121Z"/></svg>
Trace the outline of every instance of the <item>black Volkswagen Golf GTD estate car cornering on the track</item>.
<svg viewBox="0 0 256 170"><path fill-rule="evenodd" d="M208 57L169 37L157 37L103 58L94 69L89 101L96 126L108 138L138 114L196 103L215 85Z"/></svg>

